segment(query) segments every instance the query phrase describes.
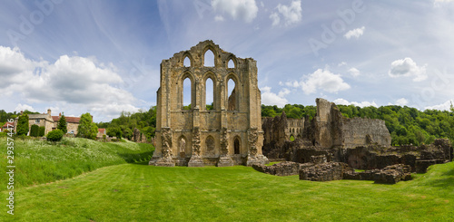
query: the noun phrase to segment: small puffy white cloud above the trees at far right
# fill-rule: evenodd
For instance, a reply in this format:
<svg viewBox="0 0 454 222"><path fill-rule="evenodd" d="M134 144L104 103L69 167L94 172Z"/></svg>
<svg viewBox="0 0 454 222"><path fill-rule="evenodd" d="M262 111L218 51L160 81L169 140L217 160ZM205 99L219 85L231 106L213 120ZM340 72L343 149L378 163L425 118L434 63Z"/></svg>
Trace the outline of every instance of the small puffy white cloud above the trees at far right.
<svg viewBox="0 0 454 222"><path fill-rule="evenodd" d="M427 79L426 73L427 64L418 66L411 58L396 60L391 63L391 69L388 74L390 77L396 78L400 76L414 76L414 82L421 82Z"/></svg>

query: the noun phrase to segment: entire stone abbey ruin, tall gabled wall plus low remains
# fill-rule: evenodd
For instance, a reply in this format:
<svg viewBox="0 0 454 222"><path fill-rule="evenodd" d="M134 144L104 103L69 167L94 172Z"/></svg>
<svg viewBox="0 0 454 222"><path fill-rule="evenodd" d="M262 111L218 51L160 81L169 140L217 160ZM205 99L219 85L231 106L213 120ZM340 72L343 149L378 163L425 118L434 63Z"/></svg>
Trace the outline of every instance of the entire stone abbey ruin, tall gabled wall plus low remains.
<svg viewBox="0 0 454 222"><path fill-rule="evenodd" d="M212 66L205 64L209 51L214 57ZM186 106L185 80L191 82L190 104ZM206 102L209 81L212 105ZM230 81L234 86L229 86ZM311 120L288 119L284 112L262 118L256 61L237 58L212 41L198 43L161 63L155 151L149 164L246 165L274 175L300 174L301 179L316 181L395 183L410 179L410 172L424 172L430 165L452 161L449 140L391 147L385 121L348 119L333 102L317 99L316 103L317 112ZM286 161L267 167L268 159ZM371 171L356 173L353 169Z"/></svg>

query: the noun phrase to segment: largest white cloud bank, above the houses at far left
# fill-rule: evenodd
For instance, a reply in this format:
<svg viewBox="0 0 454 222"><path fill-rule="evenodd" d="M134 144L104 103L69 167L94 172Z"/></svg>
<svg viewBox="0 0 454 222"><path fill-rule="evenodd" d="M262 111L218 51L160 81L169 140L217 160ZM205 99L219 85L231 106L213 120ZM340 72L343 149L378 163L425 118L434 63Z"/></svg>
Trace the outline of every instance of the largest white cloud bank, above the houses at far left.
<svg viewBox="0 0 454 222"><path fill-rule="evenodd" d="M95 58L62 55L54 63L36 62L18 49L0 46L0 76L2 82L11 79L8 91L20 93L23 100L32 103L75 104L86 111L115 111L116 115L119 110L138 110L131 92L114 87L123 83L114 65L98 63ZM33 107L18 104L15 110Z"/></svg>

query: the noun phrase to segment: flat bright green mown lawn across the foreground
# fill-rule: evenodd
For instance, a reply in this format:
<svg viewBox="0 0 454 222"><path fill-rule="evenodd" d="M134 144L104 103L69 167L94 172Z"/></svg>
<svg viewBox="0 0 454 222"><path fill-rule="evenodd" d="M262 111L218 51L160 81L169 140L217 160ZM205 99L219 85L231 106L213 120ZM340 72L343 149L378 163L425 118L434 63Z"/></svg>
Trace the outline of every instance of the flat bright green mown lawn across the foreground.
<svg viewBox="0 0 454 222"><path fill-rule="evenodd" d="M122 164L16 189L15 200L0 221L454 221L454 163L397 185Z"/></svg>

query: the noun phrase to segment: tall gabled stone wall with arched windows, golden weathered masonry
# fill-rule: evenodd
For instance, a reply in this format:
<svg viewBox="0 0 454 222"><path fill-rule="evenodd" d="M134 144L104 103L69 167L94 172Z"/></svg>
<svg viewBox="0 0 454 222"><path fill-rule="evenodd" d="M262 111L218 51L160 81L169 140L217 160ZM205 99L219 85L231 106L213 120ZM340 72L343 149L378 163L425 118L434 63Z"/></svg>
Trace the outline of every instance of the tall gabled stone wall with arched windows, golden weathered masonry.
<svg viewBox="0 0 454 222"><path fill-rule="evenodd" d="M214 54L214 66L204 55ZM191 65L183 61L188 58ZM234 67L229 68L232 61ZM191 110L183 110L183 82L191 81ZM213 109L205 107L206 82L213 82ZM228 98L228 82L235 82ZM237 58L212 41L173 54L161 63L157 92L155 166L218 167L266 163L262 155L261 92L257 65L252 58Z"/></svg>

